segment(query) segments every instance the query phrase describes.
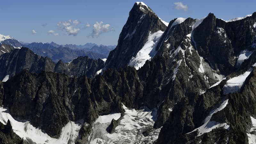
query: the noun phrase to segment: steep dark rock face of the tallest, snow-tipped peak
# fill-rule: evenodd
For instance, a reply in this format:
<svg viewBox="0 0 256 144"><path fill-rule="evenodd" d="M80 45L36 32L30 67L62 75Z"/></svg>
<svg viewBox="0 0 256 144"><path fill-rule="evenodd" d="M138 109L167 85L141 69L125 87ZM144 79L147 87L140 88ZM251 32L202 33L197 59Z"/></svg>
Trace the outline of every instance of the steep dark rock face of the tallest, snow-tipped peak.
<svg viewBox="0 0 256 144"><path fill-rule="evenodd" d="M165 29L164 23L148 6L135 3L116 48L109 53L106 68L125 67L147 42L150 33Z"/></svg>

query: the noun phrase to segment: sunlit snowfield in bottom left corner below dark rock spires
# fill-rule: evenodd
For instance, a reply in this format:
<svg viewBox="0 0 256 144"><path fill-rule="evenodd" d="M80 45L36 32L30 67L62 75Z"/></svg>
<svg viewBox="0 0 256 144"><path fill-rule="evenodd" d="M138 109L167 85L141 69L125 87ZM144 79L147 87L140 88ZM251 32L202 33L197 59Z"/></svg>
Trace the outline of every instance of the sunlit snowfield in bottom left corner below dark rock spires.
<svg viewBox="0 0 256 144"><path fill-rule="evenodd" d="M8 108L0 107L0 122L3 124L7 124L8 119L12 124L13 132L15 132L21 138L24 138L24 140L30 139L35 143L47 144L68 142L75 143L76 139L78 138L79 130L84 123L83 120L80 120L78 122L70 121L62 128L60 138L55 139L47 135L45 132L42 132L41 129L35 128L27 120L19 120L17 118L14 119L10 115Z"/></svg>

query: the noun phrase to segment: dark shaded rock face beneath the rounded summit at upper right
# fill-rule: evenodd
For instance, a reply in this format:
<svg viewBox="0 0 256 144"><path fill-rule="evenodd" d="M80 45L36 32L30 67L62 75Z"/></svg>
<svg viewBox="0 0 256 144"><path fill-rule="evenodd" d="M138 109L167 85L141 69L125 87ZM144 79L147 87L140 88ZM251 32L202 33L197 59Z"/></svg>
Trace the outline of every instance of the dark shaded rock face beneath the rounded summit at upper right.
<svg viewBox="0 0 256 144"><path fill-rule="evenodd" d="M251 49L255 39L254 15L233 22L225 22L210 13L193 31L199 55L209 60L215 70L224 75L234 71L236 56Z"/></svg>

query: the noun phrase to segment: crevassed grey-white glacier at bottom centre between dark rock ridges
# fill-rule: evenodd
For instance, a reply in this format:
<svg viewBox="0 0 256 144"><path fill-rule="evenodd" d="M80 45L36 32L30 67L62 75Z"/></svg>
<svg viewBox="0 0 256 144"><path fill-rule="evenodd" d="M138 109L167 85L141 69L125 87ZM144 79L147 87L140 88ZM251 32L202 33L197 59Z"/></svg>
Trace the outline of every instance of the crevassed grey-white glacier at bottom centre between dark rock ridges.
<svg viewBox="0 0 256 144"><path fill-rule="evenodd" d="M142 132L152 127L156 121L156 108L149 110L141 108L140 110L128 109L123 105L125 110L124 117L112 134L106 131L111 123L112 118L117 120L120 113L99 116L93 126L92 134L89 138L90 144L95 143L153 143L160 132L160 129L153 129L146 137Z"/></svg>

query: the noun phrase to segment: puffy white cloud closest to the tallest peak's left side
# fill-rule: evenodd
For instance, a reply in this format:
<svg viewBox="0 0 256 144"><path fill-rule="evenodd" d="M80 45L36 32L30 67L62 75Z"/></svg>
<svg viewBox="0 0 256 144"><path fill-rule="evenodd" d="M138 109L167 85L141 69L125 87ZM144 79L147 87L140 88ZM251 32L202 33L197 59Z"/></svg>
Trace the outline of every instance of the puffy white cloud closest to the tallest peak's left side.
<svg viewBox="0 0 256 144"><path fill-rule="evenodd" d="M100 21L100 22L96 22L94 25L93 25L93 29L92 29L92 38L94 37L99 37L100 34L103 34L103 33L106 33L108 31L114 31L114 28L109 28L110 27L110 24L103 24L103 21Z"/></svg>

